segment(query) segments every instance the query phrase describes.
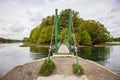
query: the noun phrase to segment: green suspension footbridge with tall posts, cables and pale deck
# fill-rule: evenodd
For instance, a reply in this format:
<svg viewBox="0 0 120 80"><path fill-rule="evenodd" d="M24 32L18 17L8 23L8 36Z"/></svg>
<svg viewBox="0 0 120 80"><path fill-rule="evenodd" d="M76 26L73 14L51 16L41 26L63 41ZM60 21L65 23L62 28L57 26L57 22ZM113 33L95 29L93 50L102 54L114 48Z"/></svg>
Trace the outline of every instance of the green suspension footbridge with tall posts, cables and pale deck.
<svg viewBox="0 0 120 80"><path fill-rule="evenodd" d="M52 29L52 36L51 36L51 42L50 42L50 47L49 47L49 54L48 54L48 60L50 60L50 54L51 54L51 50L52 50L52 44L53 44L53 37L54 37L54 33L55 33L55 53L53 55L57 55L57 54L64 54L64 55L74 55L74 53L72 53L72 43L74 45L74 52L75 52L75 56L76 56L76 64L78 67L78 74L80 74L80 70L79 70L79 63L78 63L78 54L77 54L77 47L76 47L76 39L75 39L75 34L74 34L74 27L73 27L73 21L72 21L72 11L71 9L69 9L69 14L68 16L68 40L63 44L61 42L58 42L58 20L59 20L59 15L58 15L58 9L55 9L55 21L54 21L54 26ZM72 37L73 34L73 37ZM73 41L72 41L73 39ZM63 41L62 41L63 42Z"/></svg>

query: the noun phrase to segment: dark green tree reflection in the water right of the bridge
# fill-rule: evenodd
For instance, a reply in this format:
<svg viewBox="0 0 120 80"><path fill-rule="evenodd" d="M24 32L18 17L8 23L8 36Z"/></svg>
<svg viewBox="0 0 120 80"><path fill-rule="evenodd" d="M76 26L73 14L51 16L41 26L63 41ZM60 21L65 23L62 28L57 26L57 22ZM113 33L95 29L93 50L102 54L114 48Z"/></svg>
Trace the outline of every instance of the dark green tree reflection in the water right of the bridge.
<svg viewBox="0 0 120 80"><path fill-rule="evenodd" d="M78 56L93 61L104 61L110 56L109 47L86 47L78 50Z"/></svg>

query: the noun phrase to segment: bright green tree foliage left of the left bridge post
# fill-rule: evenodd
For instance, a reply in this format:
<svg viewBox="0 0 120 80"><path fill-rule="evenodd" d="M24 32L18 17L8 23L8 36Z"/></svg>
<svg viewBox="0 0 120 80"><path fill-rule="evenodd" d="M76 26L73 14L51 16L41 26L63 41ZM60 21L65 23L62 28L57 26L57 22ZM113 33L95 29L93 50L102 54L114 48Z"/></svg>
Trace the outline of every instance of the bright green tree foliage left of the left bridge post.
<svg viewBox="0 0 120 80"><path fill-rule="evenodd" d="M48 16L43 18L42 23L35 27L30 33L31 43L49 43L52 33L52 26L54 22L54 16Z"/></svg>

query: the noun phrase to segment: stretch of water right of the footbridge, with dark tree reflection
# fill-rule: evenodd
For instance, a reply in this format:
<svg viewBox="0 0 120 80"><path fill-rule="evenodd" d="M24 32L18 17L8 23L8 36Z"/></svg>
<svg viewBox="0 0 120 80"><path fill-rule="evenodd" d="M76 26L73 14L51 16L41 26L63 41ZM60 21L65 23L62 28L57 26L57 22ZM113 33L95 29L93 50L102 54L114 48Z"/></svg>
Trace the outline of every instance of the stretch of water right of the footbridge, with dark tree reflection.
<svg viewBox="0 0 120 80"><path fill-rule="evenodd" d="M80 48L78 55L120 74L120 46Z"/></svg>

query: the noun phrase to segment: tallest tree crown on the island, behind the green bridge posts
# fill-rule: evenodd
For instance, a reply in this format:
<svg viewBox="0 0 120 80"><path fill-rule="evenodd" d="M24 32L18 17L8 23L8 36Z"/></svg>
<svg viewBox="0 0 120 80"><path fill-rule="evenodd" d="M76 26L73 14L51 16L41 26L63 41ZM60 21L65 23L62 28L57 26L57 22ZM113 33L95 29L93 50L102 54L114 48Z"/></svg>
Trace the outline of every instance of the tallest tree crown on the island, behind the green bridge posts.
<svg viewBox="0 0 120 80"><path fill-rule="evenodd" d="M63 28L68 28L68 19L69 19L69 9L62 10L59 16L59 29L62 31ZM72 10L72 23L75 27L75 31L78 31L78 27L83 21L82 18L79 18L79 12Z"/></svg>

